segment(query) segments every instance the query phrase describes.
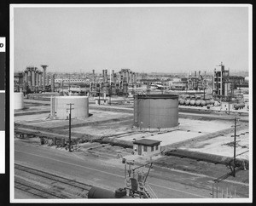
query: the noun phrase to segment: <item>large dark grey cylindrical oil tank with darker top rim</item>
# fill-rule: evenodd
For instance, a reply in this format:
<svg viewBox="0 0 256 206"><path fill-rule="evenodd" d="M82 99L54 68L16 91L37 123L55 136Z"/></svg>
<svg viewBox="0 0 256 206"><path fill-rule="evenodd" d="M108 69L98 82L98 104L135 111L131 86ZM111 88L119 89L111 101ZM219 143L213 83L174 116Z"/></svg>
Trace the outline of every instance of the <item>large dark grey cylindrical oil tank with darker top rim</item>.
<svg viewBox="0 0 256 206"><path fill-rule="evenodd" d="M178 95L137 94L134 97L134 125L166 129L178 124Z"/></svg>

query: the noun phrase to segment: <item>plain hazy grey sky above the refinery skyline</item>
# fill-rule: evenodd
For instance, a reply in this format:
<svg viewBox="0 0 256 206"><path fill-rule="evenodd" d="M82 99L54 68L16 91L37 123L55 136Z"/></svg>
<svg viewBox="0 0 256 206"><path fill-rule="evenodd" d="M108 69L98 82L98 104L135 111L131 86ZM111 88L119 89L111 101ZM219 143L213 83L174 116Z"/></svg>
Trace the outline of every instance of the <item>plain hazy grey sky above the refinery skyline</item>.
<svg viewBox="0 0 256 206"><path fill-rule="evenodd" d="M248 8L15 8L15 72L248 69Z"/></svg>

